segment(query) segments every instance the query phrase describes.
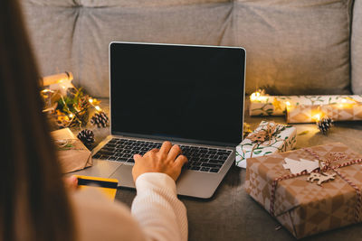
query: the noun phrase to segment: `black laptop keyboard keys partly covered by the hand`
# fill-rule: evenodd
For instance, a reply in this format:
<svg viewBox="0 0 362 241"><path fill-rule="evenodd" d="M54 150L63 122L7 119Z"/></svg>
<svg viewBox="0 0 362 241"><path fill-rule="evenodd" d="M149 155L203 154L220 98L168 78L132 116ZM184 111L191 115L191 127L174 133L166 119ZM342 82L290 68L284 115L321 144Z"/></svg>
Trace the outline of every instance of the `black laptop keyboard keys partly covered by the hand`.
<svg viewBox="0 0 362 241"><path fill-rule="evenodd" d="M134 154L145 154L154 148L160 148L161 143L113 138L105 144L93 158L115 162L134 163ZM230 150L197 147L179 144L182 154L188 159L186 169L217 173L232 153Z"/></svg>

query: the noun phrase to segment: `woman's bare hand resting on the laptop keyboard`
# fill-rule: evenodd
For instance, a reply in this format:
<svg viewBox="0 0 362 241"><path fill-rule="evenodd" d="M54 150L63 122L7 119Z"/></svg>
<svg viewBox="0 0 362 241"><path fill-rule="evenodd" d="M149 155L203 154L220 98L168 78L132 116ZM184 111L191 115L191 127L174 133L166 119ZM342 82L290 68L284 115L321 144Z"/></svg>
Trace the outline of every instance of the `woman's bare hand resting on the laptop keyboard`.
<svg viewBox="0 0 362 241"><path fill-rule="evenodd" d="M138 176L146 172L166 173L176 181L182 166L187 162L186 156L180 153L181 148L178 145L164 142L159 150L152 149L143 156L135 154L133 156L135 165L132 169L133 181L136 182Z"/></svg>

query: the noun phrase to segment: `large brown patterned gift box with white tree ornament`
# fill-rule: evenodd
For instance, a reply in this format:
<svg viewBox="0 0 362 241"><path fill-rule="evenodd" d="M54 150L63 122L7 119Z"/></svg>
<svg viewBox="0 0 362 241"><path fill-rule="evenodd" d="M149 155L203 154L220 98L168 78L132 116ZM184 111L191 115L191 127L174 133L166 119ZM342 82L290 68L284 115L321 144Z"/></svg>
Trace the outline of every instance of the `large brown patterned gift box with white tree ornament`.
<svg viewBox="0 0 362 241"><path fill-rule="evenodd" d="M320 161L334 180L321 185L307 181L319 173L292 174L283 167L286 158ZM362 220L361 162L362 154L339 143L249 158L245 189L293 236L310 236Z"/></svg>

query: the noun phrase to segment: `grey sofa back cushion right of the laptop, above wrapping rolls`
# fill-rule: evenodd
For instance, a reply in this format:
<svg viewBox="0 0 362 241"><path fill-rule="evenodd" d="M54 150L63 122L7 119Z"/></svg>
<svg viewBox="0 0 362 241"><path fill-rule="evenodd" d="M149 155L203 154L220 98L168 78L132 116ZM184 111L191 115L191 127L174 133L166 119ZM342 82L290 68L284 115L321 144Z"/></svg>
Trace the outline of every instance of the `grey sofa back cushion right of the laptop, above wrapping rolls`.
<svg viewBox="0 0 362 241"><path fill-rule="evenodd" d="M271 94L348 94L349 0L235 1L246 88Z"/></svg>

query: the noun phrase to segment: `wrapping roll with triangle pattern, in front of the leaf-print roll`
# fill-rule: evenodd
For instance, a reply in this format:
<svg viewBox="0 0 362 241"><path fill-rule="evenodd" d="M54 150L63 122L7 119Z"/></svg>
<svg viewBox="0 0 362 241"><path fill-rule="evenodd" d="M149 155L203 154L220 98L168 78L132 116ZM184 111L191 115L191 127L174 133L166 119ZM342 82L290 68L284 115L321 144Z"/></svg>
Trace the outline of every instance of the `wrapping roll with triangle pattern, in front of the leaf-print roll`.
<svg viewBox="0 0 362 241"><path fill-rule="evenodd" d="M362 103L341 103L321 106L288 106L288 123L313 123L323 116L335 121L362 120Z"/></svg>

